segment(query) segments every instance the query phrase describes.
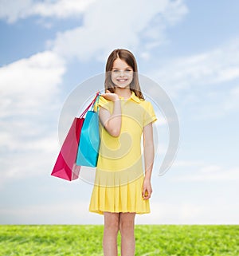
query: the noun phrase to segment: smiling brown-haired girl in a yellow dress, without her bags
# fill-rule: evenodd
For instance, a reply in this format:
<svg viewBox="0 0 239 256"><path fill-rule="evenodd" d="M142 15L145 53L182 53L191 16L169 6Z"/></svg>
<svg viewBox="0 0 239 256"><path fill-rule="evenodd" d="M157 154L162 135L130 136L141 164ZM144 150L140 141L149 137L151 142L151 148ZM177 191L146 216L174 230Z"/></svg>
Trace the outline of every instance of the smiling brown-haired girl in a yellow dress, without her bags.
<svg viewBox="0 0 239 256"><path fill-rule="evenodd" d="M137 72L131 52L114 50L106 65L105 93L95 106L100 108L101 142L89 211L104 215L105 256L117 255L118 232L121 255L135 255L135 214L150 212L156 116L144 100Z"/></svg>

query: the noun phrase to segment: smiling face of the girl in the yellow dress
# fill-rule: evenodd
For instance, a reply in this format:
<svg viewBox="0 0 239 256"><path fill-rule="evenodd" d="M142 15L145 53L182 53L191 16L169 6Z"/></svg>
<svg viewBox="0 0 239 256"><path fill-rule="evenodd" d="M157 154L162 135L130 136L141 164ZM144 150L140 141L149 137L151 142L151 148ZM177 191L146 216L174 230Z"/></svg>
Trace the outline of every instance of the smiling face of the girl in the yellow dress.
<svg viewBox="0 0 239 256"><path fill-rule="evenodd" d="M112 82L119 88L127 88L133 80L133 69L119 58L113 62Z"/></svg>

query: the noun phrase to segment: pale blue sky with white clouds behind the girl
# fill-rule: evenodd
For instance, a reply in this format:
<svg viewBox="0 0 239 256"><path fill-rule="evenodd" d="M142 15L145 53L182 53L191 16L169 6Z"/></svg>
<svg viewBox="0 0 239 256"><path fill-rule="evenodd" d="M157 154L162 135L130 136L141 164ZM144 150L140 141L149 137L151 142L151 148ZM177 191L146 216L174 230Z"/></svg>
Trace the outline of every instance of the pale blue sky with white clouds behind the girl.
<svg viewBox="0 0 239 256"><path fill-rule="evenodd" d="M136 223L238 224L238 13L236 0L0 0L0 223L103 223L88 213L91 184L49 174L72 90L127 48L180 124L178 154L159 176L167 123L157 110L151 214Z"/></svg>

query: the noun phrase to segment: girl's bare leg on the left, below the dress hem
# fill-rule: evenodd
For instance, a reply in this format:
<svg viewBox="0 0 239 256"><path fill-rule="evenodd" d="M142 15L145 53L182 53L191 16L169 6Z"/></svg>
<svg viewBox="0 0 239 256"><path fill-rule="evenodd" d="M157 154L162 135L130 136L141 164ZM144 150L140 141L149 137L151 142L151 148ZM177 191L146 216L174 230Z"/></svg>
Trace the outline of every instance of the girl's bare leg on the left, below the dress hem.
<svg viewBox="0 0 239 256"><path fill-rule="evenodd" d="M117 256L117 234L119 232L119 213L104 212L104 256Z"/></svg>

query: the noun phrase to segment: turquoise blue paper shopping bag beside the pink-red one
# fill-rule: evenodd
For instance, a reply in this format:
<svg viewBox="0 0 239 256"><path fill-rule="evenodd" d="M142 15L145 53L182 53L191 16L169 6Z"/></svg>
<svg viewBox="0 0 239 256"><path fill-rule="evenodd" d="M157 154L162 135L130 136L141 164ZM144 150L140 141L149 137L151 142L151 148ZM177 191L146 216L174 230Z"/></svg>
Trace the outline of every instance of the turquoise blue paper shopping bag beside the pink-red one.
<svg viewBox="0 0 239 256"><path fill-rule="evenodd" d="M96 102L99 100L98 95ZM86 112L84 124L81 128L80 143L78 147L76 164L80 166L96 167L100 148L100 132L99 132L99 111L92 109Z"/></svg>

